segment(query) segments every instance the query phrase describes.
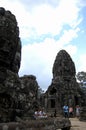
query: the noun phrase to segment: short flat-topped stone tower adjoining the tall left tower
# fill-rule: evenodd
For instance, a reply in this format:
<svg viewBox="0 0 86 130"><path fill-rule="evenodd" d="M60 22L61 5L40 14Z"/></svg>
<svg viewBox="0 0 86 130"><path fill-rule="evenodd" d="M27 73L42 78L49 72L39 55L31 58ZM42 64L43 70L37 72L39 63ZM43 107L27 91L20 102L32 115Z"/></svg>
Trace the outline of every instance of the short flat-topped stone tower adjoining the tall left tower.
<svg viewBox="0 0 86 130"><path fill-rule="evenodd" d="M38 83L34 75L25 75L20 77L21 81L21 102L23 103L24 110L26 113L25 116L32 116L33 112L39 107L38 99Z"/></svg>

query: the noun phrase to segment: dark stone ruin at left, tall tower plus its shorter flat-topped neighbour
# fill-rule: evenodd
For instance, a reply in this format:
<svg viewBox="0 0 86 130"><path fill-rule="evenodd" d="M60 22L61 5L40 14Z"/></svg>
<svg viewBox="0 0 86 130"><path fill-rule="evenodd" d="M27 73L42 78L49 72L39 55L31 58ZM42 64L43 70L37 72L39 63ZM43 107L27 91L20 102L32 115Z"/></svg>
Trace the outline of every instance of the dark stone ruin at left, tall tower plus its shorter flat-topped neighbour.
<svg viewBox="0 0 86 130"><path fill-rule="evenodd" d="M35 76L19 78L21 41L16 17L0 7L0 122L24 117L37 98ZM31 113L31 112L30 112Z"/></svg>

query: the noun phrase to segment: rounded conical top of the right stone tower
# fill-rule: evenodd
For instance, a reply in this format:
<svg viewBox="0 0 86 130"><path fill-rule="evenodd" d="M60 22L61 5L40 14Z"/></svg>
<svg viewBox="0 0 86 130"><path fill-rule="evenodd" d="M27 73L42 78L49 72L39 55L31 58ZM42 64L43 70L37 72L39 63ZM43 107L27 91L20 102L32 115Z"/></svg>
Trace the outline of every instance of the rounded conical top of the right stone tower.
<svg viewBox="0 0 86 130"><path fill-rule="evenodd" d="M65 50L59 51L53 65L53 78L61 76L70 80L71 77L75 78L75 74L75 64L70 55Z"/></svg>

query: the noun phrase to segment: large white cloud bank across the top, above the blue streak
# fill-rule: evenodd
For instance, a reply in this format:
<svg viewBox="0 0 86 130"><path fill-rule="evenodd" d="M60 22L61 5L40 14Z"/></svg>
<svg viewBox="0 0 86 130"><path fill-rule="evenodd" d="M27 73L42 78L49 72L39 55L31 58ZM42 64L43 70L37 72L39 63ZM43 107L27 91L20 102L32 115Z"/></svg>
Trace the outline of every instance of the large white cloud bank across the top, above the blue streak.
<svg viewBox="0 0 86 130"><path fill-rule="evenodd" d="M40 3L39 1L37 2ZM76 6L77 0L60 0L59 6L57 3L55 8L48 2L46 4L46 2L42 3L41 1L40 6L38 6L39 4L34 6L31 11L29 10L31 1L27 2L28 9L25 8L24 3L21 3L20 0L10 2L5 0L1 5L16 15L20 27L20 36L23 38L29 37L30 32L33 32L32 29L38 35L47 33L55 35L61 32L64 24L73 27L78 23L79 8ZM54 2L56 3L56 1ZM34 4L36 3L32 1L32 5Z"/></svg>

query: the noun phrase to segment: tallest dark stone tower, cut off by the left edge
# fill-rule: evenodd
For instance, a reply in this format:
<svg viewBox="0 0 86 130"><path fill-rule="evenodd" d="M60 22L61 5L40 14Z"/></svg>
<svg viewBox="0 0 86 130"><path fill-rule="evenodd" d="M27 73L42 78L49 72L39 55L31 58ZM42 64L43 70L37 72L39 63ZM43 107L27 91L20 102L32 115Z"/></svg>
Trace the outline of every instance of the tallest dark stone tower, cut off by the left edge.
<svg viewBox="0 0 86 130"><path fill-rule="evenodd" d="M0 120L11 118L18 102L21 41L15 16L0 8ZM15 105L16 103L16 105ZM10 108L10 109L9 109ZM9 113L9 114L8 114ZM14 112L13 112L14 113ZM8 116L9 115L9 116Z"/></svg>

